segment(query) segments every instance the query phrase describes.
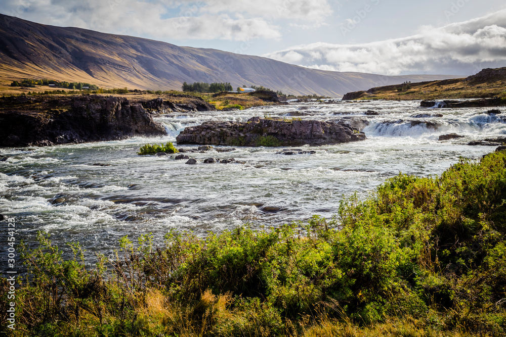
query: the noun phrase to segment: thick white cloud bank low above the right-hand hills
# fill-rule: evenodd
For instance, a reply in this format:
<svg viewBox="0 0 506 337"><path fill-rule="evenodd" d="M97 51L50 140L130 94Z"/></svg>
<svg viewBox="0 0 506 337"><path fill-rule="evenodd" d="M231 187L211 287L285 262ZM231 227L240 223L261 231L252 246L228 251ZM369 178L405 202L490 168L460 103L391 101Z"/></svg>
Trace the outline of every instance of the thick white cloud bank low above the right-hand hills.
<svg viewBox="0 0 506 337"><path fill-rule="evenodd" d="M476 73L487 66L506 66L506 10L439 28L424 26L405 38L343 45L317 42L264 56L334 71Z"/></svg>

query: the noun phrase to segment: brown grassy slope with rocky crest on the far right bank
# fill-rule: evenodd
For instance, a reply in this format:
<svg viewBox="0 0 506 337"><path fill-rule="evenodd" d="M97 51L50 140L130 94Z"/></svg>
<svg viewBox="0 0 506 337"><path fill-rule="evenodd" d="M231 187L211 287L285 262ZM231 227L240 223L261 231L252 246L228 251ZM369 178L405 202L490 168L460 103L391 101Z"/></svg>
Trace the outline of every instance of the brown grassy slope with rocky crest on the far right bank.
<svg viewBox="0 0 506 337"><path fill-rule="evenodd" d="M483 69L467 78L417 82L348 92L343 100L443 100L506 98L506 67Z"/></svg>

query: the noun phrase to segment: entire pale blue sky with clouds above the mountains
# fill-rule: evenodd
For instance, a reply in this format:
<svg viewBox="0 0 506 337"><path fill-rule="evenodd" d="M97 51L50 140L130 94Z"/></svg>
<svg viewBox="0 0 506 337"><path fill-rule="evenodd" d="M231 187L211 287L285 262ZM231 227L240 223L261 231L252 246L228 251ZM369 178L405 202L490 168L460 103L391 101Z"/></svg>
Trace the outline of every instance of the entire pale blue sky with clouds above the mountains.
<svg viewBox="0 0 506 337"><path fill-rule="evenodd" d="M54 26L383 75L506 66L504 0L0 0Z"/></svg>

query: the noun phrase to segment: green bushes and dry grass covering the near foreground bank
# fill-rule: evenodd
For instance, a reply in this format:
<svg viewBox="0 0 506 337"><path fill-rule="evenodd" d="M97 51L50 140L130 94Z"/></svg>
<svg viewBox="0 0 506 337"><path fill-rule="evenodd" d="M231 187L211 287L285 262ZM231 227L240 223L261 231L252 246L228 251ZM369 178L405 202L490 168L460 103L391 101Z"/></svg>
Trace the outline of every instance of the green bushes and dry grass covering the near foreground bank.
<svg viewBox="0 0 506 337"><path fill-rule="evenodd" d="M506 152L400 174L313 217L120 240L112 260L21 249L14 335L504 336ZM8 283L0 312L6 315ZM2 317L6 321L6 317ZM7 327L2 325L3 331Z"/></svg>

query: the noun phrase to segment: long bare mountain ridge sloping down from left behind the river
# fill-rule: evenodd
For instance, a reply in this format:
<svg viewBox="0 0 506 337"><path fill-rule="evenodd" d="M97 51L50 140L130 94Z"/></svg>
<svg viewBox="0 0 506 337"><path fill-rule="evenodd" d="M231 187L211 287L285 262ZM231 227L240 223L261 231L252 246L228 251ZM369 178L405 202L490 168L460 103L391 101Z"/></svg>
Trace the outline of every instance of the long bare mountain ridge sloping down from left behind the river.
<svg viewBox="0 0 506 337"><path fill-rule="evenodd" d="M48 78L103 87L181 89L184 81L264 85L341 97L364 87L457 76L383 76L299 67L263 57L42 25L0 14L0 78Z"/></svg>

